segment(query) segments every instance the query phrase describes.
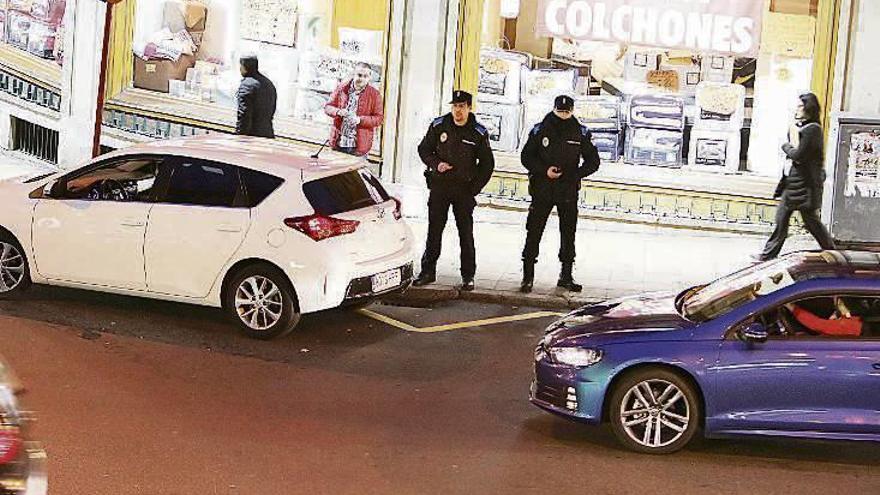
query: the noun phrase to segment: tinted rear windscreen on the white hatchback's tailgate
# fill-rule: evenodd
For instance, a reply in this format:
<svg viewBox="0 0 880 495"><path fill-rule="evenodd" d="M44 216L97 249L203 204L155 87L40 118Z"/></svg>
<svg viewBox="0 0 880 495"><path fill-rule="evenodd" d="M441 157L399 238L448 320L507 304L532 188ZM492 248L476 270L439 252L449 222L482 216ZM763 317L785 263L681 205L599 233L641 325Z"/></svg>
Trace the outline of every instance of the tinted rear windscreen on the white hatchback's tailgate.
<svg viewBox="0 0 880 495"><path fill-rule="evenodd" d="M331 175L303 184L312 208L323 215L335 215L388 201L382 183L369 170Z"/></svg>

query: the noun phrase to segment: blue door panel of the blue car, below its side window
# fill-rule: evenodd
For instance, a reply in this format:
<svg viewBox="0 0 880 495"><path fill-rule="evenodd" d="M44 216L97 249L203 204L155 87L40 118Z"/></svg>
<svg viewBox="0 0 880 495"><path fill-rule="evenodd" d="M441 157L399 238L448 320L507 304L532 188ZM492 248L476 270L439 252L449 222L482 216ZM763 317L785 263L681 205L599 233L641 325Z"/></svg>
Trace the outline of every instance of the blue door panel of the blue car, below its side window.
<svg viewBox="0 0 880 495"><path fill-rule="evenodd" d="M725 340L713 367L707 426L731 433L880 433L880 375L872 374L880 372L867 354L857 340Z"/></svg>

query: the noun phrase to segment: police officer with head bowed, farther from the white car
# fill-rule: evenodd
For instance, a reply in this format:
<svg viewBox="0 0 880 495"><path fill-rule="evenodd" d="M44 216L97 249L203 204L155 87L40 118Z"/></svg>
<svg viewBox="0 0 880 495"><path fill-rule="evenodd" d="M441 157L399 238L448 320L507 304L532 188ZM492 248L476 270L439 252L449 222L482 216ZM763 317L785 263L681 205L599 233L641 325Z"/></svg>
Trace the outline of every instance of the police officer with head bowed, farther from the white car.
<svg viewBox="0 0 880 495"><path fill-rule="evenodd" d="M593 146L590 131L573 117L573 109L574 100L570 96L556 97L554 110L531 130L522 151L522 163L529 171L532 204L526 220L521 292L532 291L541 236L554 206L559 215L559 261L562 262L556 285L572 292L582 289L572 276L578 191L581 179L599 170L599 152Z"/></svg>

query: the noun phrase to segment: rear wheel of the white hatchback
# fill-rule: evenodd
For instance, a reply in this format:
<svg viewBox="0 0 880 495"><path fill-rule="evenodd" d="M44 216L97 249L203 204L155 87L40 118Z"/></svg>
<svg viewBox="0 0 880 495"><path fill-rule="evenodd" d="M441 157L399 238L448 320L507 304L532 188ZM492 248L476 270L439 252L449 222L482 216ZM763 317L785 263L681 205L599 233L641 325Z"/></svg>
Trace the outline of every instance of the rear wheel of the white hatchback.
<svg viewBox="0 0 880 495"><path fill-rule="evenodd" d="M274 267L243 268L227 285L224 298L224 306L248 337L273 339L286 335L299 323L293 288Z"/></svg>

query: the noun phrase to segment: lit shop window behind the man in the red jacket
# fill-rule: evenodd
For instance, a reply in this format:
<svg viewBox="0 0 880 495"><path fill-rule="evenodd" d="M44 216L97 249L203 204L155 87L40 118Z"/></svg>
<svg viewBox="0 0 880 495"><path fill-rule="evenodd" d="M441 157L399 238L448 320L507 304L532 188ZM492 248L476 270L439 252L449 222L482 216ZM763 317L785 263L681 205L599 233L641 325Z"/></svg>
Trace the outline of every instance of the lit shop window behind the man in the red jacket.
<svg viewBox="0 0 880 495"><path fill-rule="evenodd" d="M374 94L384 96L389 6L390 0L138 2L132 85L162 97L144 98L144 104L231 125L238 60L254 53L277 89L276 134L320 144L334 124L325 113L331 93L359 63L369 68ZM130 97L126 103L139 102ZM377 131L374 154L381 127ZM178 136L172 130L170 137Z"/></svg>

